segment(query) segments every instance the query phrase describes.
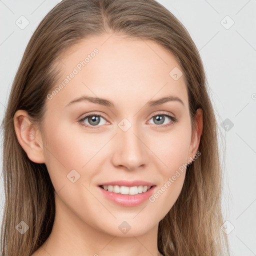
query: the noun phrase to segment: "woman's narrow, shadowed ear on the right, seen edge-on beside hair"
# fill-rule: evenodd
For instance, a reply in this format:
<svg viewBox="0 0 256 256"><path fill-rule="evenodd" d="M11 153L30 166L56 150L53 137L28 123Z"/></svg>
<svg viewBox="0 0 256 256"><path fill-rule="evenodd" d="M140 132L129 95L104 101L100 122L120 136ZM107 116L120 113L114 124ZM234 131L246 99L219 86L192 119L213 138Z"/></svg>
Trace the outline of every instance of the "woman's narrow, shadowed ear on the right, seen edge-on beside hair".
<svg viewBox="0 0 256 256"><path fill-rule="evenodd" d="M195 117L194 117L194 122L195 122L195 127L192 130L191 142L190 142L188 158L187 158L188 163L190 163L194 159L200 143L200 137L202 134L202 126L203 126L201 108L197 108Z"/></svg>

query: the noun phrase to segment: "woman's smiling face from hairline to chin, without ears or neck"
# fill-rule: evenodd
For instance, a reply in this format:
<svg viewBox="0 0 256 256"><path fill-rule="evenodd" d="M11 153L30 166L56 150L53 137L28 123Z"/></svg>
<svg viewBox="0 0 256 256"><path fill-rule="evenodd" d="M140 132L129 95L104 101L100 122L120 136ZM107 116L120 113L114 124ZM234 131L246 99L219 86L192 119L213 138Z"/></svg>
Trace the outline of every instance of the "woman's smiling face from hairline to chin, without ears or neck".
<svg viewBox="0 0 256 256"><path fill-rule="evenodd" d="M178 62L153 41L108 34L58 64L41 139L59 215L111 235L145 233L176 201L197 149Z"/></svg>

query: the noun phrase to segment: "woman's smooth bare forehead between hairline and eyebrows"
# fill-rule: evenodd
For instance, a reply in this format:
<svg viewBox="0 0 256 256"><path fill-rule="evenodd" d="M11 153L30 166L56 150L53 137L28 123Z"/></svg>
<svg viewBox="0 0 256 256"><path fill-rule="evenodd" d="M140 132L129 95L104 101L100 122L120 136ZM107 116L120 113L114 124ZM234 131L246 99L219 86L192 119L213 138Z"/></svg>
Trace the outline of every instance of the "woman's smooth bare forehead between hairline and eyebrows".
<svg viewBox="0 0 256 256"><path fill-rule="evenodd" d="M82 94L113 100L118 96L122 102L173 94L187 103L179 63L152 40L111 34L91 36L69 47L59 56L58 65L61 78L55 87L60 83L62 86L54 101L62 105Z"/></svg>

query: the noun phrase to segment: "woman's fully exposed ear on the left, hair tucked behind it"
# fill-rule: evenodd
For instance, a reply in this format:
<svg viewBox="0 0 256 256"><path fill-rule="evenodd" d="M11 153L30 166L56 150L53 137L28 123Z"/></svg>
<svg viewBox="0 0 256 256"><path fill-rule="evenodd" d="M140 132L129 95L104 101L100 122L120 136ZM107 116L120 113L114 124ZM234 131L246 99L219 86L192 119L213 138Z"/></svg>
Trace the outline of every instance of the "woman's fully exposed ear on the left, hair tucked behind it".
<svg viewBox="0 0 256 256"><path fill-rule="evenodd" d="M44 163L43 144L39 130L32 126L25 110L17 110L13 117L14 129L19 144L28 158L36 163Z"/></svg>

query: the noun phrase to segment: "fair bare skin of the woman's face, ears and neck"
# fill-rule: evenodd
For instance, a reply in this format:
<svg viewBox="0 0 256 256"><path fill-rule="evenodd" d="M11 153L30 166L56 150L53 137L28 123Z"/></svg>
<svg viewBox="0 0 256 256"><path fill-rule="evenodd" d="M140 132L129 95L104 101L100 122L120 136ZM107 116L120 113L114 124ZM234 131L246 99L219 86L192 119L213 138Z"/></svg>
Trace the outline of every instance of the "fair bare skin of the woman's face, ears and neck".
<svg viewBox="0 0 256 256"><path fill-rule="evenodd" d="M45 163L55 188L53 229L33 256L160 255L158 222L176 201L185 171L154 202L137 206L108 200L98 184L139 179L153 182L156 192L198 149L202 111L197 110L191 130L185 81L169 75L173 67L181 69L175 57L151 40L109 35L86 38L61 56L59 83L84 56L99 50L47 100L43 133L31 126L26 111L14 115L18 142L31 161ZM81 95L111 100L114 107L88 101L65 107ZM179 97L184 105L174 100L146 105L166 95ZM81 126L78 120L92 112L103 116L100 123L93 126L87 118L83 123L90 126ZM177 121L163 115L164 124L170 125L160 127L151 114L165 113ZM126 131L118 126L123 118L131 123ZM72 169L80 174L74 183L67 178ZM118 228L123 221L130 225L125 234Z"/></svg>

